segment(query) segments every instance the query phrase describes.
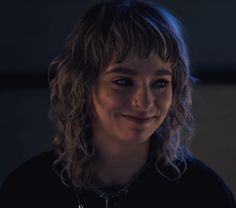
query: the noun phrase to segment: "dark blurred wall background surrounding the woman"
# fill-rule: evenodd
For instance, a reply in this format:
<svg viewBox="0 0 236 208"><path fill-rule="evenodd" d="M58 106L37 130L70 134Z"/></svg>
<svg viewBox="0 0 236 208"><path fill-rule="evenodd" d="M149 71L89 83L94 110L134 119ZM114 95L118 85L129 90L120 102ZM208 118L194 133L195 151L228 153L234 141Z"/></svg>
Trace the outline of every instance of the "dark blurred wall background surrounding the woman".
<svg viewBox="0 0 236 208"><path fill-rule="evenodd" d="M47 69L95 0L1 0L0 184L51 148ZM236 193L236 1L158 1L183 23L192 72L196 135L191 149Z"/></svg>

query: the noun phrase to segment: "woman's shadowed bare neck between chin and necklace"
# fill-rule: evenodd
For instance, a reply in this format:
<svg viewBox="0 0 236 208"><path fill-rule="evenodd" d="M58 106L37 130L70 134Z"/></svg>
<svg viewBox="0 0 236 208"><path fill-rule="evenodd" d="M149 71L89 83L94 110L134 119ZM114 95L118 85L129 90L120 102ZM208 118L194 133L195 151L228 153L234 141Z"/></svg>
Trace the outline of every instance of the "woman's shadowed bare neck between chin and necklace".
<svg viewBox="0 0 236 208"><path fill-rule="evenodd" d="M144 166L149 142L99 147L97 179L101 186L126 184Z"/></svg>

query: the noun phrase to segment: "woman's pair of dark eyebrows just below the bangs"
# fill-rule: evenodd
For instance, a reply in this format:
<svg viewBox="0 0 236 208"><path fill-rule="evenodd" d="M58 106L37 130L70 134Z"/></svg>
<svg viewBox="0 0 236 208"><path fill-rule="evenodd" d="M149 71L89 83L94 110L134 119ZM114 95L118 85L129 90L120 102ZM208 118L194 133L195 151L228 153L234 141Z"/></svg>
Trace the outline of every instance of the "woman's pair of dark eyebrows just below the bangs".
<svg viewBox="0 0 236 208"><path fill-rule="evenodd" d="M132 68L127 68L127 67L115 67L112 68L110 71L105 72L105 74L127 74L127 75L133 75L133 76L137 76L138 72ZM168 69L158 69L155 71L155 73L153 73L153 75L156 76L172 76L172 72Z"/></svg>

